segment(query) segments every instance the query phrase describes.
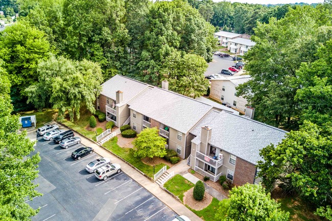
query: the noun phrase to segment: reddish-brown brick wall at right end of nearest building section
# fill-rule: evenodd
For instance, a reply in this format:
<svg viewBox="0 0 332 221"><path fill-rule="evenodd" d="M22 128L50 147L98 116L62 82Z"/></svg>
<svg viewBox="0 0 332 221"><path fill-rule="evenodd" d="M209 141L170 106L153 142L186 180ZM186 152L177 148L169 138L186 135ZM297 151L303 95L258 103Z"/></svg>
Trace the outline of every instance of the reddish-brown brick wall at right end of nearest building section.
<svg viewBox="0 0 332 221"><path fill-rule="evenodd" d="M256 174L256 166L241 158L236 158L233 184L241 186L246 183L252 184Z"/></svg>

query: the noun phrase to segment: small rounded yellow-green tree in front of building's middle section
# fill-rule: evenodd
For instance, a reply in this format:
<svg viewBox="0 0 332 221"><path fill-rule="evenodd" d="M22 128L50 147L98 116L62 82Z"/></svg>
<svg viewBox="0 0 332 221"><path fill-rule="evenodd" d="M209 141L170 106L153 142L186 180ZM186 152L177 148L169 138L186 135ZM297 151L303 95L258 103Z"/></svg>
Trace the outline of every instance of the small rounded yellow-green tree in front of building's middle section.
<svg viewBox="0 0 332 221"><path fill-rule="evenodd" d="M166 139L159 136L157 128L146 128L141 131L133 141L132 153L138 158L153 158L165 156Z"/></svg>

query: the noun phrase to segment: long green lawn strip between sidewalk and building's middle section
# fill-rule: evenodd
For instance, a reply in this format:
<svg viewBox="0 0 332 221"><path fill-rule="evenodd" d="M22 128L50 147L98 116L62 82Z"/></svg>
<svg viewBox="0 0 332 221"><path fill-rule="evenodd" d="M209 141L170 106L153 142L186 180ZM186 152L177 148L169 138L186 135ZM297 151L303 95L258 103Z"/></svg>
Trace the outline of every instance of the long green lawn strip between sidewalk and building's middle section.
<svg viewBox="0 0 332 221"><path fill-rule="evenodd" d="M153 166L145 164L139 158L134 157L129 151L130 148L122 148L117 145L117 137L105 142L103 146L153 179ZM165 166L163 163L155 165L155 173L163 166ZM169 166L167 166L167 168L169 168Z"/></svg>

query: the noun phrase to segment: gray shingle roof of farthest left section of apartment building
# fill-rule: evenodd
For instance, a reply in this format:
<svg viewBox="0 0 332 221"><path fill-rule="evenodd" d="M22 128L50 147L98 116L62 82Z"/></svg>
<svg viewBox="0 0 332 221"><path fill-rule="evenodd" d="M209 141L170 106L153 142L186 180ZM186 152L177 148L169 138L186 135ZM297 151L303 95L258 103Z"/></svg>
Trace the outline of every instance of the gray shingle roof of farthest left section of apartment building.
<svg viewBox="0 0 332 221"><path fill-rule="evenodd" d="M125 104L147 87L149 87L148 84L121 75L115 75L113 78L102 84L101 94L115 101L115 92L121 90L123 92L123 102L121 104Z"/></svg>

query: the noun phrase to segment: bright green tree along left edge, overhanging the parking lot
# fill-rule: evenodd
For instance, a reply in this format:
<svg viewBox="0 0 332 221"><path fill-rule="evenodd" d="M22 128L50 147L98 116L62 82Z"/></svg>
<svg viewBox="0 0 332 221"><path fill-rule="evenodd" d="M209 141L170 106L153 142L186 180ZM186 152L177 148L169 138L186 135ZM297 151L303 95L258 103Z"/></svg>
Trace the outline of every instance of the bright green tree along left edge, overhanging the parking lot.
<svg viewBox="0 0 332 221"><path fill-rule="evenodd" d="M21 126L18 115L11 115L10 82L2 65L0 59L0 219L31 220L38 209L25 202L41 195L32 183L38 176L40 157L31 155L34 142L26 138L27 133L16 133Z"/></svg>

